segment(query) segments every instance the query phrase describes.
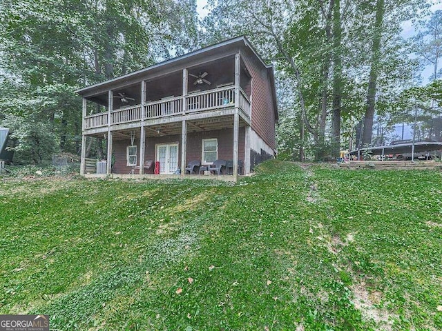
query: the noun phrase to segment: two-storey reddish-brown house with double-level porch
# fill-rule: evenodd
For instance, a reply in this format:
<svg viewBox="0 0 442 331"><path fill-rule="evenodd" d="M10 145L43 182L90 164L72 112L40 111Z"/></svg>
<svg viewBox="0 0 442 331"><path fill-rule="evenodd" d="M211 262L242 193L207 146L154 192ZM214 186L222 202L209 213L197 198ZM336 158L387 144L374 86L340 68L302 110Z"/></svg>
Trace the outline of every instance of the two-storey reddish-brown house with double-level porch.
<svg viewBox="0 0 442 331"><path fill-rule="evenodd" d="M236 181L238 172L249 174L275 156L273 66L245 37L77 93L83 97L81 174L86 177L97 176L86 171L86 143L94 137L107 139L107 161L97 172L113 177L185 177L180 169L193 160L208 174L215 160L226 160L230 167L222 171Z"/></svg>

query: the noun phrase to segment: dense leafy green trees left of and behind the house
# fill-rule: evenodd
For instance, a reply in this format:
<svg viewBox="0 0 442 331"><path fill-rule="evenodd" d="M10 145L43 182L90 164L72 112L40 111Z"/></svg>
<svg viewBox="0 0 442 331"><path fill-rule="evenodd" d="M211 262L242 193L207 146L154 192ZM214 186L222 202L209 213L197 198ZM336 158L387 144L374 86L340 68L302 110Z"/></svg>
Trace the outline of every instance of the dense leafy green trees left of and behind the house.
<svg viewBox="0 0 442 331"><path fill-rule="evenodd" d="M78 153L74 91L195 48L195 8L195 0L1 1L0 73L15 83L0 97L0 120L13 115L17 132L43 123L57 148Z"/></svg>

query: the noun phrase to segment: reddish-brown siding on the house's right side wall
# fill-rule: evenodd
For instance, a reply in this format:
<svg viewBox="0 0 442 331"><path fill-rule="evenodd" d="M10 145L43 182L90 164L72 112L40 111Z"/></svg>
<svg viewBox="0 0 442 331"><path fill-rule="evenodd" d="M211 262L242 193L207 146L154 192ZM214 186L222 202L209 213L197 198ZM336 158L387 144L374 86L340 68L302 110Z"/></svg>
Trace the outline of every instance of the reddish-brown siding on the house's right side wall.
<svg viewBox="0 0 442 331"><path fill-rule="evenodd" d="M251 86L251 127L270 148L274 149L276 148L276 121L268 70L252 55L242 54L241 59L247 66L253 80Z"/></svg>

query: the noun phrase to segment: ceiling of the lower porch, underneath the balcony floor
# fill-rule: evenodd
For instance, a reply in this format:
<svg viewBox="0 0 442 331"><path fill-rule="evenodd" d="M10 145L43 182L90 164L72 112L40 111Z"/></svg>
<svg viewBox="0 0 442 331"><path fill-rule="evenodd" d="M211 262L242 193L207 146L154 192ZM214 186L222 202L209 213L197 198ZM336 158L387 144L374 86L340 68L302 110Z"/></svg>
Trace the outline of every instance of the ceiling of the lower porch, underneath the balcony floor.
<svg viewBox="0 0 442 331"><path fill-rule="evenodd" d="M246 126L247 123L240 118L240 127ZM187 133L204 132L222 129L233 128L233 115L226 115L220 117L212 117L209 119L195 119L193 121L187 121ZM155 126L145 126L144 131L146 137L165 137L176 134L181 134L182 122L173 122L158 124ZM135 139L140 139L140 128L133 130L119 130L113 131L113 140L127 140L131 139L131 133L135 133ZM104 138L106 133L93 134L92 137Z"/></svg>

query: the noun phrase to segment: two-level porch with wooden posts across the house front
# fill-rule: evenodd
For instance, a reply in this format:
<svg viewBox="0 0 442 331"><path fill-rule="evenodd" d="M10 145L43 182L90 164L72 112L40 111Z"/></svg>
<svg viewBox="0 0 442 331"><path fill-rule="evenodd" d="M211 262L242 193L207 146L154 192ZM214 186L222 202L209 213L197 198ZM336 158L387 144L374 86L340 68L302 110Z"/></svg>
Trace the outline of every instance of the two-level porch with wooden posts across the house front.
<svg viewBox="0 0 442 331"><path fill-rule="evenodd" d="M180 170L189 161L210 165L204 160L204 146L218 141L223 147L219 151L216 147L217 159L230 160L234 169L240 165L241 173L250 170L246 150L251 76L239 53L86 94L83 118L82 146L90 137L105 139L107 144L106 172L99 174L87 173L82 148L81 174L85 176L153 175L145 167L151 161L160 169L156 175L184 178ZM224 146L227 141L229 147ZM236 181L238 171L231 177Z"/></svg>

